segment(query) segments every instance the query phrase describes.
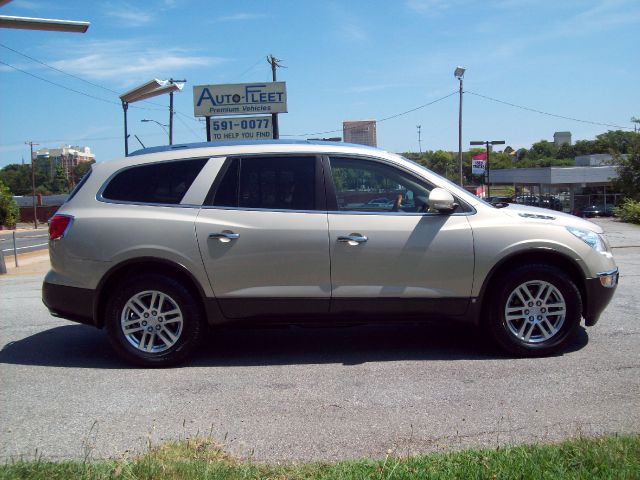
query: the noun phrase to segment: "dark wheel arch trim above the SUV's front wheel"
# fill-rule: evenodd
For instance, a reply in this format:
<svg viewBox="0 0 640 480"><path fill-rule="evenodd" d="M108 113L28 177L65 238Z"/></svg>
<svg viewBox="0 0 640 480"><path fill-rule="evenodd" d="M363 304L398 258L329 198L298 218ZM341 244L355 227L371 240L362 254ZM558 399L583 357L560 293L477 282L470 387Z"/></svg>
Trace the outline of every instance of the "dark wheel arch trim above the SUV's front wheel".
<svg viewBox="0 0 640 480"><path fill-rule="evenodd" d="M485 277L480 293L478 295L478 302L480 305L478 311L480 312L480 318L478 323L485 321L488 315L487 308L490 305L491 284L501 276L503 276L509 270L520 267L522 265L532 264L545 264L553 267L557 267L565 272L573 283L578 287L580 297L582 299L582 314L584 314L587 305L587 287L585 282L585 276L580 268L580 265L567 255L563 253L549 250L547 248L536 248L522 252L515 252L498 262L489 271L489 274Z"/></svg>

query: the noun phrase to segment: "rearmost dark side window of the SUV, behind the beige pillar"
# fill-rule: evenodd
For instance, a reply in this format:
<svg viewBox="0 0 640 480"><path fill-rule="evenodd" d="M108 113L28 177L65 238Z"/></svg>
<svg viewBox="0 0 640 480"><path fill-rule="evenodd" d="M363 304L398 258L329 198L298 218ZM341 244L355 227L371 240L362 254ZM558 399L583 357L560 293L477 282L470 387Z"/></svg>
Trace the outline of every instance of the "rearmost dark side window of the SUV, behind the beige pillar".
<svg viewBox="0 0 640 480"><path fill-rule="evenodd" d="M118 173L102 196L137 203L179 204L207 159L154 163Z"/></svg>

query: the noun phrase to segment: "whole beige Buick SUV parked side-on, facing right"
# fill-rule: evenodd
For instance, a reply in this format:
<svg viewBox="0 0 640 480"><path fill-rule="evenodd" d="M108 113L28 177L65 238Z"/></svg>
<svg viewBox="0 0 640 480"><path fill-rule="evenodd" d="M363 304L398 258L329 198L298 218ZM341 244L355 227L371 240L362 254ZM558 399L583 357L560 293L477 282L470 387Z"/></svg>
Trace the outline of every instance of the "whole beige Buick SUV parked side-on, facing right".
<svg viewBox="0 0 640 480"><path fill-rule="evenodd" d="M457 320L545 355L598 321L618 281L588 221L495 208L398 155L325 142L97 164L53 217L50 255L49 310L105 327L141 365L182 361L230 322Z"/></svg>

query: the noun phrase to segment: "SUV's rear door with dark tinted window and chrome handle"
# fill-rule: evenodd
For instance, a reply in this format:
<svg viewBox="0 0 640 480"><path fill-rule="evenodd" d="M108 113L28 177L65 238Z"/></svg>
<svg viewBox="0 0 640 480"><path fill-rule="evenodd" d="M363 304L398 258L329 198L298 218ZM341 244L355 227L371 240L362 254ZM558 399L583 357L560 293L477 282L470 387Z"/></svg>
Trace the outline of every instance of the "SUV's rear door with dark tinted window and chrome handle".
<svg viewBox="0 0 640 480"><path fill-rule="evenodd" d="M323 182L314 155L226 160L196 222L207 275L226 317L328 312Z"/></svg>

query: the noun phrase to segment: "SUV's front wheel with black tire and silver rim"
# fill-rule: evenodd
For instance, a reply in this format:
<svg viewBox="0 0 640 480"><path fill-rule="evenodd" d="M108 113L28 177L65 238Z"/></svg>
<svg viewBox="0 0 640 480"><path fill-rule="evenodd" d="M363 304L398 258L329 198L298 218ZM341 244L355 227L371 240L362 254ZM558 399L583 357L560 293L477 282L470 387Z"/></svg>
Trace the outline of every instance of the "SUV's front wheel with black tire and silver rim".
<svg viewBox="0 0 640 480"><path fill-rule="evenodd" d="M526 292L519 287L531 294L524 304ZM490 288L495 293L488 309L489 331L507 352L523 357L550 355L575 336L582 318L582 297L562 270L545 264L525 265L501 276ZM542 292L540 304L534 298L538 292ZM563 303L564 309L556 306Z"/></svg>

